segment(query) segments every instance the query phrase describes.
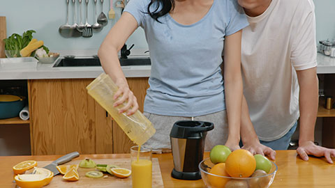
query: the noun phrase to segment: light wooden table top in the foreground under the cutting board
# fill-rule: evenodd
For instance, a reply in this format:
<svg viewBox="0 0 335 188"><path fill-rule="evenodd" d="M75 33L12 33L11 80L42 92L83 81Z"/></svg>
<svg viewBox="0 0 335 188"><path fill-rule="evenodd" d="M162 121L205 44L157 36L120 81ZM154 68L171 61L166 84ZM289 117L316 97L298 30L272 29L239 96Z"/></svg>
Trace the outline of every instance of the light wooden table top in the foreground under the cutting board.
<svg viewBox="0 0 335 188"><path fill-rule="evenodd" d="M8 156L0 157L0 187L15 187L12 167L24 160L51 161L60 157L59 155L48 156ZM128 154L111 155L80 155L77 159L111 159L129 157ZM159 160L164 187L204 187L202 180L188 181L171 178L173 168L172 155L154 155ZM205 153L208 157L208 153ZM310 157L304 162L297 157L295 150L277 151L276 161L278 172L274 179L272 188L276 187L335 187L335 166L328 164L324 158Z"/></svg>

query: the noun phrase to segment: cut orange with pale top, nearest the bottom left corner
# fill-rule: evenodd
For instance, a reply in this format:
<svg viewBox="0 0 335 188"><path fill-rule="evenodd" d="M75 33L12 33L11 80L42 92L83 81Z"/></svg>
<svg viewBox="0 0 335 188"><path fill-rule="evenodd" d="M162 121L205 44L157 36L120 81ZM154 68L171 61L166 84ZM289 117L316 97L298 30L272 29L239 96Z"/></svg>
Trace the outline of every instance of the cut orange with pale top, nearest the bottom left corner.
<svg viewBox="0 0 335 188"><path fill-rule="evenodd" d="M52 178L54 178L54 173L51 172L49 176L45 174L22 174L15 175L16 185L22 188L38 188L48 185Z"/></svg>

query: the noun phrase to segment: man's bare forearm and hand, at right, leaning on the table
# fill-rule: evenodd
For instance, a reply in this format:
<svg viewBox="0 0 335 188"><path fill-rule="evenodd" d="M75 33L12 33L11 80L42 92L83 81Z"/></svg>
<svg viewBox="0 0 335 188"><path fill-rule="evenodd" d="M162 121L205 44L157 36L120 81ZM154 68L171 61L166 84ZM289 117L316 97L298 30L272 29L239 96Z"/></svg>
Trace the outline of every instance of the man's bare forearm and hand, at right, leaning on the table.
<svg viewBox="0 0 335 188"><path fill-rule="evenodd" d="M297 152L305 161L308 155L316 157L325 156L327 162L333 164L332 157L335 157L335 150L328 149L314 144L314 128L318 113L318 77L316 68L297 71L299 81L299 148Z"/></svg>

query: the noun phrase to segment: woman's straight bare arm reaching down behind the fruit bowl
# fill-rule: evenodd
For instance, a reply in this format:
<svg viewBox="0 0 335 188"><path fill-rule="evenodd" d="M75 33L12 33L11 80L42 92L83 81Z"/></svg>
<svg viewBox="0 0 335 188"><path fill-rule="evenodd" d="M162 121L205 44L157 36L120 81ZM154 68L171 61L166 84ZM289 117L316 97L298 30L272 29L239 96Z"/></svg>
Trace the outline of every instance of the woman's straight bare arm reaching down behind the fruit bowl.
<svg viewBox="0 0 335 188"><path fill-rule="evenodd" d="M243 83L241 77L241 33L238 31L225 37L224 81L225 106L228 116L228 140L225 146L232 150L239 148L241 125L241 101Z"/></svg>

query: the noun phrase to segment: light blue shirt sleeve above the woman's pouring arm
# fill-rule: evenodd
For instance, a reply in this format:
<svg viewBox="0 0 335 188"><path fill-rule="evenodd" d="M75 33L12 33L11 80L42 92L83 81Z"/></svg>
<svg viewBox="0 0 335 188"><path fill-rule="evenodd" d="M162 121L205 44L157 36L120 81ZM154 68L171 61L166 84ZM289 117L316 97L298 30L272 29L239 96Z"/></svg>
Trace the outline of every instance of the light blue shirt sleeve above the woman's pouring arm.
<svg viewBox="0 0 335 188"><path fill-rule="evenodd" d="M124 12L130 13L135 17L138 26L144 27L145 17L147 14L148 0L131 0L127 3L126 8L124 8Z"/></svg>

